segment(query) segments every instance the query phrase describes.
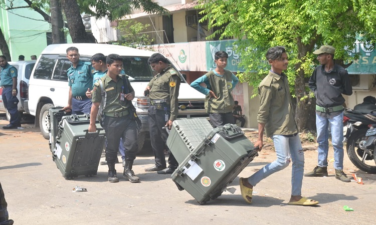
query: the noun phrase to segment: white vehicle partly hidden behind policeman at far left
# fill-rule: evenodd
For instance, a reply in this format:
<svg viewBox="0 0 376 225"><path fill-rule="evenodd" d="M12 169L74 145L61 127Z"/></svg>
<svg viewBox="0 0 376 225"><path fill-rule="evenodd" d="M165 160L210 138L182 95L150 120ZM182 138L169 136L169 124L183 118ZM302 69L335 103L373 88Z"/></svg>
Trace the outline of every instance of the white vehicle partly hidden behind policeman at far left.
<svg viewBox="0 0 376 225"><path fill-rule="evenodd" d="M20 100L18 103L18 111L20 112L20 115L23 116L25 111L28 111L28 109L25 109L24 102L28 99L28 84L30 75L32 73L33 67L35 65L36 60L28 60L28 61L9 61L8 63L15 66L18 71L17 76L17 90L18 94L17 97ZM8 121L11 119L11 115L5 108L3 104L3 97L2 97L3 88L0 87L0 111L7 112L7 119Z"/></svg>

